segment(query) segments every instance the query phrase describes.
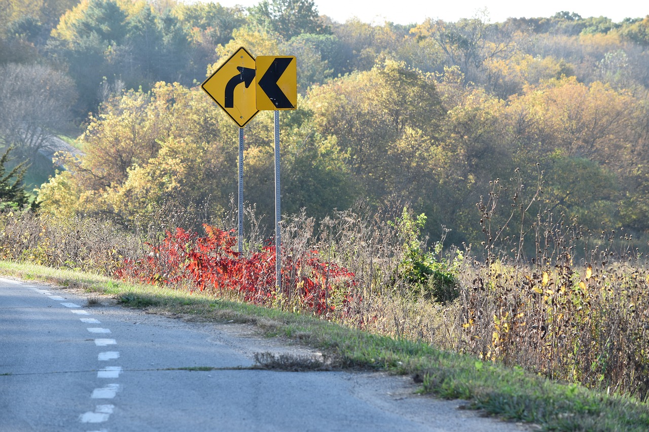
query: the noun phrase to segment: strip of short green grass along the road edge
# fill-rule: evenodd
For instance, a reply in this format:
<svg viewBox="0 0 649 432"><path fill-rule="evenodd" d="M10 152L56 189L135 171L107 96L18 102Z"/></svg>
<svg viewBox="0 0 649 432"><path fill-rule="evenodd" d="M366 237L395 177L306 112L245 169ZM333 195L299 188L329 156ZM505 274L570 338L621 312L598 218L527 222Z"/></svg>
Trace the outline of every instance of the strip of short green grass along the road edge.
<svg viewBox="0 0 649 432"><path fill-rule="evenodd" d="M173 313L206 322L249 322L269 336L282 336L326 352L337 368L411 374L421 392L461 398L472 409L561 431L647 431L649 404L607 394L475 357L437 350L339 326L319 318L219 300L151 285L123 283L72 270L0 261L0 274L114 296L129 307ZM267 359L274 361L275 359Z"/></svg>

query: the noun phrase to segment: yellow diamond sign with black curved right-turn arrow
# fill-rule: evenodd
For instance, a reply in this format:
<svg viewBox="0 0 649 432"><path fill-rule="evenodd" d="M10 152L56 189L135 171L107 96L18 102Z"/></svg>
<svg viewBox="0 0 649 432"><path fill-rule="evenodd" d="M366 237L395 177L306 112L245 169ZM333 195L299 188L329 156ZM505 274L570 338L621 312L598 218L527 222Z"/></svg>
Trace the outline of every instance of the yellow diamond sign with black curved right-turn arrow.
<svg viewBox="0 0 649 432"><path fill-rule="evenodd" d="M240 128L259 112L256 108L255 69L254 57L241 47L201 84L202 90Z"/></svg>

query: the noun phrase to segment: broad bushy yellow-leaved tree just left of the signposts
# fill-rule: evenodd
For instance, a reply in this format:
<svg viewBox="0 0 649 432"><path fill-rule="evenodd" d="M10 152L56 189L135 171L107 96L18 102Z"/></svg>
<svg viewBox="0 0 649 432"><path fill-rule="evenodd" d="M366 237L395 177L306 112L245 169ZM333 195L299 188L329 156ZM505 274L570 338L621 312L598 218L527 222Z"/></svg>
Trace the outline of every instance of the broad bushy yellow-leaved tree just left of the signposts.
<svg viewBox="0 0 649 432"><path fill-rule="evenodd" d="M128 91L90 118L80 138L84 154L62 158L66 171L41 187L38 200L43 211L124 222L162 202L190 208L210 195L212 209L222 209L236 190L236 130L227 121L198 88L160 82Z"/></svg>

